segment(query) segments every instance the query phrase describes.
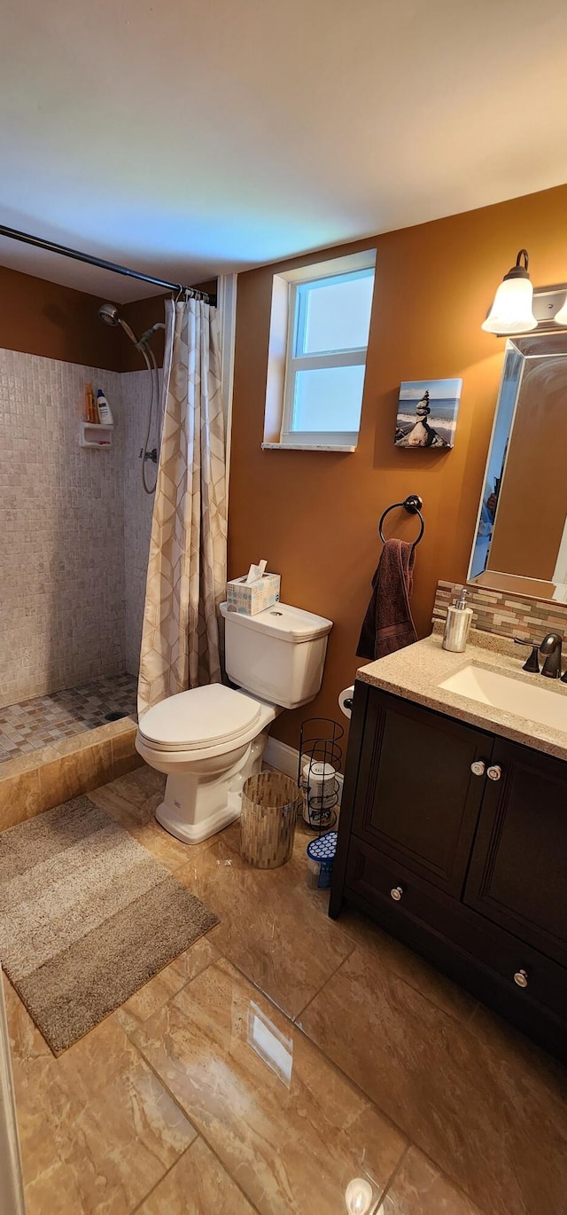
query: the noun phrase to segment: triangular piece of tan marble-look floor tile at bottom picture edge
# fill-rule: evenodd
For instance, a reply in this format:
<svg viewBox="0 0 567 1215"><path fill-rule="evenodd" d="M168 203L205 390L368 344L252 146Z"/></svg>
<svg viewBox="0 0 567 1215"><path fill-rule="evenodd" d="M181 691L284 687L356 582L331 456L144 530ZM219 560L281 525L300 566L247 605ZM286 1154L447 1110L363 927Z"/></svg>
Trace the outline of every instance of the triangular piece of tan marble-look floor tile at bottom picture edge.
<svg viewBox="0 0 567 1215"><path fill-rule="evenodd" d="M202 1138L138 1208L136 1215L254 1215L255 1208Z"/></svg>

